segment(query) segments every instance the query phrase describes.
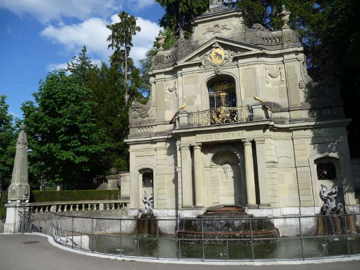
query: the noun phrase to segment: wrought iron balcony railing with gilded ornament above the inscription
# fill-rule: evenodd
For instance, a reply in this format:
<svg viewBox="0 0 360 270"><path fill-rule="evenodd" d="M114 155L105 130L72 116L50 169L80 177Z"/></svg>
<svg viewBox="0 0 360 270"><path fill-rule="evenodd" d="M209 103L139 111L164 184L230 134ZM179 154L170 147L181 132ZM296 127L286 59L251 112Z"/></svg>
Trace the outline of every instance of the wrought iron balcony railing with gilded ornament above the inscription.
<svg viewBox="0 0 360 270"><path fill-rule="evenodd" d="M189 113L189 127L205 127L215 124L242 123L253 121L254 112L250 106L218 107Z"/></svg>

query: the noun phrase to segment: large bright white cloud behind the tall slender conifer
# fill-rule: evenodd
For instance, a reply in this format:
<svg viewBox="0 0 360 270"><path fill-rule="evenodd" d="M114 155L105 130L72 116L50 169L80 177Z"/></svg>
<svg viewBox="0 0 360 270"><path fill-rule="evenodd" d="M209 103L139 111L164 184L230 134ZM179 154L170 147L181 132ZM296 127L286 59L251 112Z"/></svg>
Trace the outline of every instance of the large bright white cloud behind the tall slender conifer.
<svg viewBox="0 0 360 270"><path fill-rule="evenodd" d="M85 45L89 56L107 62L112 51L107 49L106 39L109 37L110 30L106 28L106 25L118 21L119 18L115 14L111 16L110 22L93 17L79 24L49 25L41 32L41 35L55 43L63 44L68 53L78 54ZM141 17L137 17L137 25L140 26L141 31L133 38L134 47L130 52L130 57L135 63L142 59L146 51L153 46L153 41L160 30L156 23Z"/></svg>

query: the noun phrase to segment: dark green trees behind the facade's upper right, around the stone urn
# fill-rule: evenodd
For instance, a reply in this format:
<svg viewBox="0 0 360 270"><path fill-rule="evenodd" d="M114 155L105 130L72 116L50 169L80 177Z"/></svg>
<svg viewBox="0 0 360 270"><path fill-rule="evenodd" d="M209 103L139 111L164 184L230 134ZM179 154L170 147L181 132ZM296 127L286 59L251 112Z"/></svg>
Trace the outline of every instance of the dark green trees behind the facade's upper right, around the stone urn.
<svg viewBox="0 0 360 270"><path fill-rule="evenodd" d="M318 78L325 54L321 47L321 33L325 27L327 10L332 0L241 0L227 5L237 6L243 11L244 23L252 27L259 23L267 28L280 29L278 17L282 5L291 11L289 25L300 34L300 41L308 57L310 74Z"/></svg>

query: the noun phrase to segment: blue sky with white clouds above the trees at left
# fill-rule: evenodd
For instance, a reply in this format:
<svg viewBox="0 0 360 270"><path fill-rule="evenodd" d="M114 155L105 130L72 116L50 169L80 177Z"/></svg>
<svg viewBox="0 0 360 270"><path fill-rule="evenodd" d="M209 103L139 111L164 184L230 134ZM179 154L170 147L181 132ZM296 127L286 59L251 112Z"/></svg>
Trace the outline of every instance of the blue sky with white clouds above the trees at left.
<svg viewBox="0 0 360 270"><path fill-rule="evenodd" d="M153 0L1 0L0 95L7 96L9 112L22 118L21 104L33 100L39 80L66 67L83 45L94 63L107 62L105 26L122 10L141 27L130 55L137 61L160 29L164 10Z"/></svg>

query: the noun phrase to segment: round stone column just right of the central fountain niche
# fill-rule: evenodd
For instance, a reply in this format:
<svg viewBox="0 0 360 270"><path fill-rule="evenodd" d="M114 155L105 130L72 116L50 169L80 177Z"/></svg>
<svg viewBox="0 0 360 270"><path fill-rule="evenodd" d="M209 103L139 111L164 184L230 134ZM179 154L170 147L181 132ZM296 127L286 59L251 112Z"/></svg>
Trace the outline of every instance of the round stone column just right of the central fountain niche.
<svg viewBox="0 0 360 270"><path fill-rule="evenodd" d="M251 148L251 140L243 140L244 154L245 154L245 174L246 174L246 194L248 208L257 208L256 193L255 193L255 176L254 176L254 162L253 149Z"/></svg>

